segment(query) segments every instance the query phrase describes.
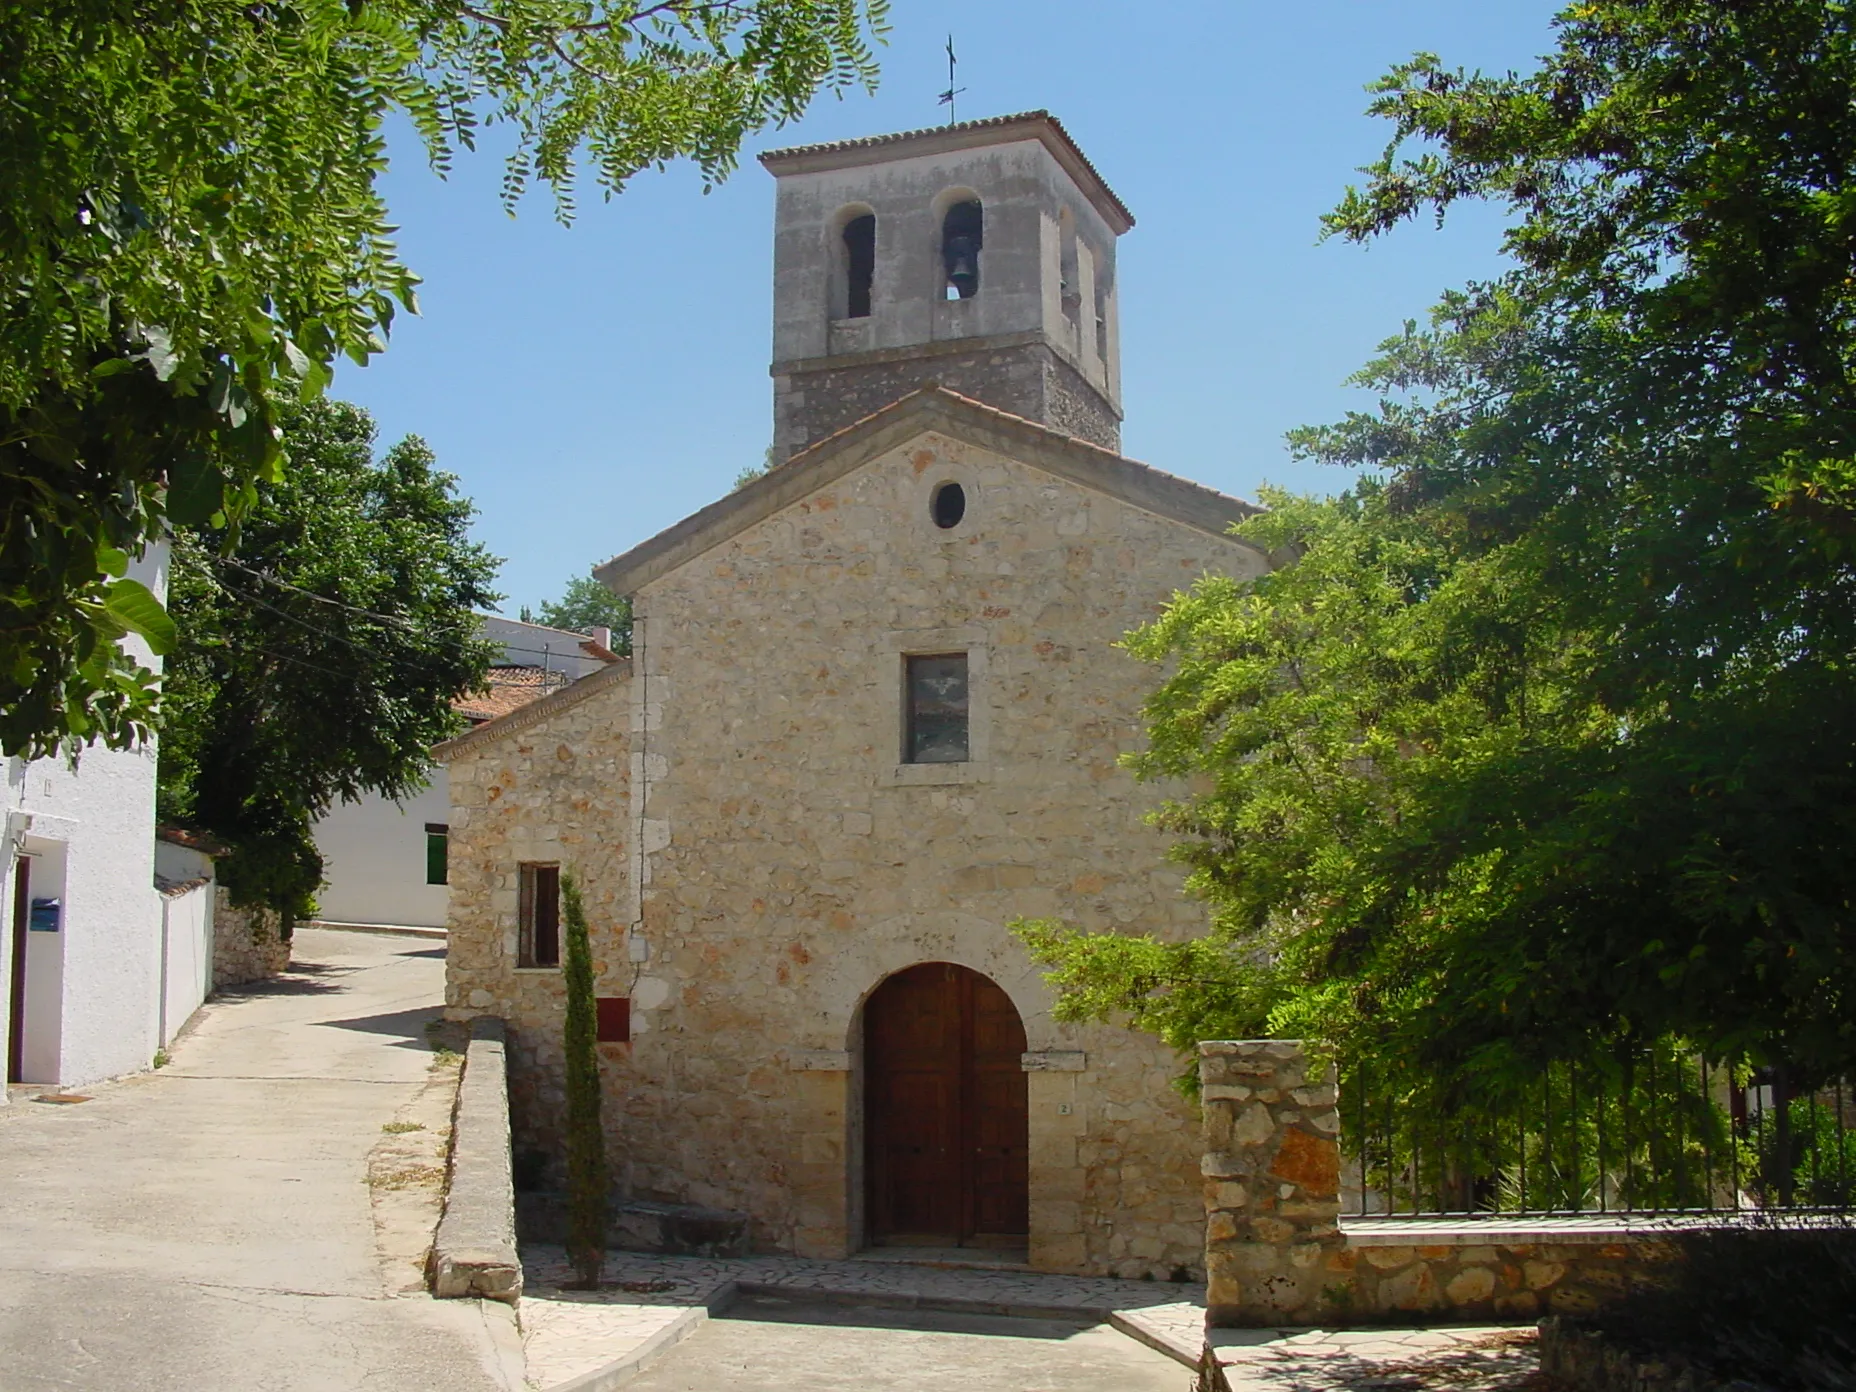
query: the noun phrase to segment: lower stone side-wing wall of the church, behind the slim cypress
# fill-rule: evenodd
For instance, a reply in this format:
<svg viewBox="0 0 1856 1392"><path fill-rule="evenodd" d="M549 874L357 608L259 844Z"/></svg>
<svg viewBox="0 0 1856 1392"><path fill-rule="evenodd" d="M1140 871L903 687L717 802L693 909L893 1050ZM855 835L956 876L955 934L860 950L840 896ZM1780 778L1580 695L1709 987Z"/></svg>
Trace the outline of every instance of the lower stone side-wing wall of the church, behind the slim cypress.
<svg viewBox="0 0 1856 1392"><path fill-rule="evenodd" d="M509 1106L518 1173L561 1156L566 993L559 967L518 963L518 865L559 863L579 876L594 991L631 995L625 960L633 837L629 664L581 677L585 700L447 761L451 783L451 941L445 1013L509 1025ZM572 687L568 689L574 690ZM609 1149L624 1156L625 1093L614 1067L627 1045L599 1045ZM559 1180L559 1173L549 1175Z"/></svg>

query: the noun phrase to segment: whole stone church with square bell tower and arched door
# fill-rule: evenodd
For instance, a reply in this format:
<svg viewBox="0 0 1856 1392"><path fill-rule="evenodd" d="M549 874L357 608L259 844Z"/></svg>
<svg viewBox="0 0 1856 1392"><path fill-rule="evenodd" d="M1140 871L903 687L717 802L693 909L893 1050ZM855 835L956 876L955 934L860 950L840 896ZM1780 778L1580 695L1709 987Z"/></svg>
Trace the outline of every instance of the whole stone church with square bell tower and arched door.
<svg viewBox="0 0 1856 1392"><path fill-rule="evenodd" d="M1117 763L1156 674L1115 644L1268 568L1251 507L1121 457L1134 219L1058 121L761 163L791 457L596 572L629 661L440 748L449 1013L509 1021L546 1169L572 870L625 1195L765 1251L1197 1271L1179 1060L1052 1021L1008 924L1203 928Z"/></svg>

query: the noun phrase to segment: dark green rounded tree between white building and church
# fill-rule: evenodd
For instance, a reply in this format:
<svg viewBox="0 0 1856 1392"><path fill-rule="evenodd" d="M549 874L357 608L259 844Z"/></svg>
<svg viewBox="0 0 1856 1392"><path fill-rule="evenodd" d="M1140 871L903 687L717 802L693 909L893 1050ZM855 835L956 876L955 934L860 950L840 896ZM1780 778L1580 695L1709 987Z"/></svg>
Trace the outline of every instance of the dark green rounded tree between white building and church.
<svg viewBox="0 0 1856 1392"><path fill-rule="evenodd" d="M284 434L293 468L236 536L176 540L160 815L230 846L234 902L288 922L323 880L316 818L418 791L431 746L460 728L451 702L492 655L473 611L496 601L497 562L418 438L375 462L373 419L330 401Z"/></svg>

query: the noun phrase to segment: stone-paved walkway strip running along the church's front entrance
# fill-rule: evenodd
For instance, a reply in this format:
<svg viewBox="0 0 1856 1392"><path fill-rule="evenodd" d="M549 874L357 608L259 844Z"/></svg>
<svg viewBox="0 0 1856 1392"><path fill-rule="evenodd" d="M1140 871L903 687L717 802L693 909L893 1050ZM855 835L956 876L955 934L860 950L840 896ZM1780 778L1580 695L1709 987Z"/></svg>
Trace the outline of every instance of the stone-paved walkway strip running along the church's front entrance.
<svg viewBox="0 0 1856 1392"><path fill-rule="evenodd" d="M1182 1364L1205 1340L1197 1286L1043 1275L1017 1270L915 1266L893 1260L811 1262L796 1257L703 1260L612 1253L598 1292L574 1279L559 1247L523 1251L522 1325L529 1385L551 1388L696 1329L733 1284L767 1294L869 1297L889 1308L1110 1321ZM1106 1331L1102 1331L1106 1334ZM830 1336L828 1336L830 1338ZM1212 1331L1234 1392L1546 1392L1531 1329L1219 1329ZM1000 1346L1004 1349L1004 1346ZM668 1364L676 1372L676 1364ZM1184 1373L1184 1368L1180 1370ZM1180 1381L1180 1390L1190 1377ZM971 1383L969 1383L971 1385ZM874 1392L878 1383L869 1385ZM978 1385L973 1385L978 1386ZM802 1392L794 1386L793 1392Z"/></svg>

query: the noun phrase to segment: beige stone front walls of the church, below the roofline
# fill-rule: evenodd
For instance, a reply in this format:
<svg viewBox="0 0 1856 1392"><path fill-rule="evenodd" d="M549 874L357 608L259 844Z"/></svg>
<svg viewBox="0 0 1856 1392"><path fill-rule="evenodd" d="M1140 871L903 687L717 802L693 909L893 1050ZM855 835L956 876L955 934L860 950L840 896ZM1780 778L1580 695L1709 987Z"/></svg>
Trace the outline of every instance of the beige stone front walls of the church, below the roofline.
<svg viewBox="0 0 1856 1392"><path fill-rule="evenodd" d="M969 499L950 531L928 509L945 481ZM509 1019L518 1145L559 1143L561 995L512 967L514 874L559 857L583 865L601 993L631 999L633 1041L603 1050L629 1197L744 1212L761 1249L861 1247L863 1000L954 961L1025 1023L1032 1264L1199 1270L1179 1060L1054 1023L1008 924L1203 932L1143 820L1167 791L1117 765L1154 672L1114 644L1201 574L1262 568L924 434L644 586L625 681L447 759L447 1004ZM902 765L904 655L954 650L974 757Z"/></svg>

